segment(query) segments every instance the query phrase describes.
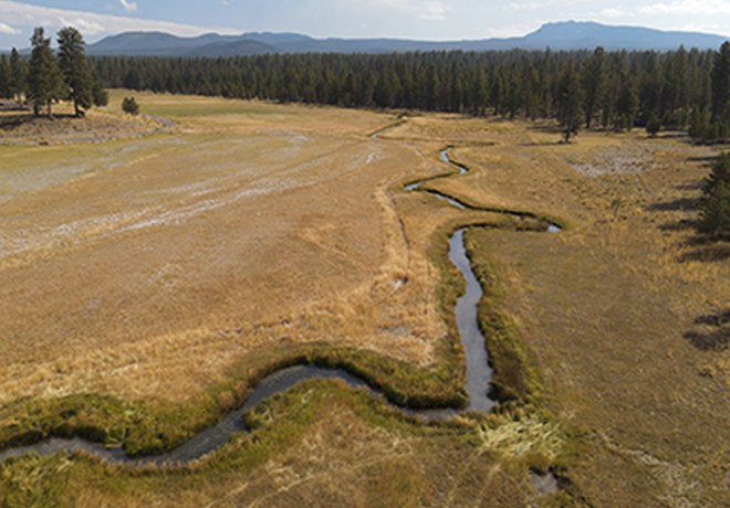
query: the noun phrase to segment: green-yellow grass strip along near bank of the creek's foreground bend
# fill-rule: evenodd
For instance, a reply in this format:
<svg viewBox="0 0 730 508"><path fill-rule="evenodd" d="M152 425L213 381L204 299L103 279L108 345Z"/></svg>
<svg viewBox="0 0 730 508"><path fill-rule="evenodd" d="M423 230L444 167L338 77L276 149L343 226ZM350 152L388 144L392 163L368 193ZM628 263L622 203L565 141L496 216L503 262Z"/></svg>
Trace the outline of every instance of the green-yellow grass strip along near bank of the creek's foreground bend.
<svg viewBox="0 0 730 508"><path fill-rule="evenodd" d="M463 424L458 423L418 425L414 419L388 409L362 390L351 390L336 381L313 380L246 413L244 421L251 432L236 435L210 459L194 465L135 468L109 465L84 454L76 454L73 461L62 454L10 459L0 465L0 506L75 506L77 491L88 486L123 504L132 499L169 500L182 491L195 491L233 475L251 475L294 446L333 403L350 408L357 419L398 435L460 440L463 430ZM73 488L74 485L80 488Z"/></svg>

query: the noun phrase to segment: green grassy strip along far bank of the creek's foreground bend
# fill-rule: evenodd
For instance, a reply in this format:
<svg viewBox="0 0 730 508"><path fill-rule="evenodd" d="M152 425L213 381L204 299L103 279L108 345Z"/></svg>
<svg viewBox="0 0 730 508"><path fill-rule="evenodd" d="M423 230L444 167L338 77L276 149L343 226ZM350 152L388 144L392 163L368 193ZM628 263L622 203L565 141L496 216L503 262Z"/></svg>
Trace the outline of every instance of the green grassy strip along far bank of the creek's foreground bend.
<svg viewBox="0 0 730 508"><path fill-rule="evenodd" d="M0 409L0 447L32 444L49 436L80 436L108 446L122 445L131 456L159 454L242 405L250 390L267 375L298 364L346 370L403 406L459 408L466 402L462 374L453 361L424 371L371 352L309 346L253 354L239 367L241 375L184 404L123 401L98 394L9 404Z"/></svg>

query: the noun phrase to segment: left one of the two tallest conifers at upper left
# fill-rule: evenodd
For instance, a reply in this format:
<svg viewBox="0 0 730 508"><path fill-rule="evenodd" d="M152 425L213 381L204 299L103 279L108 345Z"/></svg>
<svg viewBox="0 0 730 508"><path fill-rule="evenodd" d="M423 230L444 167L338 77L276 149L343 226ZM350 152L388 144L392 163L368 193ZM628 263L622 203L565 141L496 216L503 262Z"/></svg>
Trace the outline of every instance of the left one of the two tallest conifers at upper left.
<svg viewBox="0 0 730 508"><path fill-rule="evenodd" d="M59 100L65 95L63 75L51 51L51 40L45 39L42 28L35 29L31 44L33 51L28 74L28 98L33 103L35 115L39 115L40 108L45 105L49 118L52 118L53 100Z"/></svg>

